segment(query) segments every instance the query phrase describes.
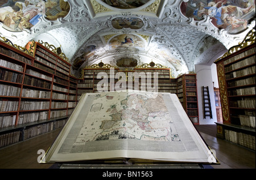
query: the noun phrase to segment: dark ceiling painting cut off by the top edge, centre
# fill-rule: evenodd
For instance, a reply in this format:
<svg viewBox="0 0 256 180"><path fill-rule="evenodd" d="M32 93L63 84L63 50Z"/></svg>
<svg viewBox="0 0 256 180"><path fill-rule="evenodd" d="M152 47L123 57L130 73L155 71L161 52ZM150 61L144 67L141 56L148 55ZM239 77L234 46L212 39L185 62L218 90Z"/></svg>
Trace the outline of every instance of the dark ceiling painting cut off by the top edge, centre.
<svg viewBox="0 0 256 180"><path fill-rule="evenodd" d="M118 8L118 9L134 9L141 7L150 0L101 0L109 6Z"/></svg>

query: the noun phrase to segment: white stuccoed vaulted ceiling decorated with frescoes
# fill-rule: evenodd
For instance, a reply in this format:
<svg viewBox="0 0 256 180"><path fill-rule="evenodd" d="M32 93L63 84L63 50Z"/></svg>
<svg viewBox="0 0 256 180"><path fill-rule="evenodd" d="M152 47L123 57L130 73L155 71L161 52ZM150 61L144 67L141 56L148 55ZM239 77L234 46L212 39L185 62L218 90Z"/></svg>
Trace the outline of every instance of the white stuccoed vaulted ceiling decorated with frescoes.
<svg viewBox="0 0 256 180"><path fill-rule="evenodd" d="M61 47L75 75L85 66L101 61L115 66L118 60L129 58L138 65L154 61L172 68L176 77L193 71L196 64L211 65L255 26L255 2L250 0L247 1L250 9L241 8L243 14L236 16L240 24L246 22L246 26L239 25L239 30L232 24L216 26L209 13L193 16L200 9L199 2L210 6L218 1L31 0L30 5L35 5L37 10L44 7L44 10L37 12L35 22L30 21L28 25L20 22L13 27L10 24L7 27L4 10L14 3L17 5L16 2L22 5L24 1L5 2L13 5L0 4L0 35L23 47L32 40ZM223 6L234 6L238 1L221 2ZM53 7L61 10L59 16L49 14ZM27 18L25 12L22 15Z"/></svg>

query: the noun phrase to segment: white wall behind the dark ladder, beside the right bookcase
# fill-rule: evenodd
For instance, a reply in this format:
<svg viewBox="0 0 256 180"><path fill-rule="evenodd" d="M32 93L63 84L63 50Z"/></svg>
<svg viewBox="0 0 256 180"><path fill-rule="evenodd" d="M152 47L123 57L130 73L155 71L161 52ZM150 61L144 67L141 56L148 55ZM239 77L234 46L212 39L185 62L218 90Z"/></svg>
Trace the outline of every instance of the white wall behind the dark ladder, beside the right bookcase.
<svg viewBox="0 0 256 180"><path fill-rule="evenodd" d="M216 75L214 75L215 74L214 65L213 67L207 66L207 65L195 65L195 73L197 74L196 77L197 77L197 97L198 97L198 106L199 106L199 124L215 124L214 122L217 122L217 115L216 115L216 107L215 107L213 82L214 82L214 86L216 87L217 72L216 72ZM210 119L209 116L206 116L204 119L202 86L209 87L210 105L212 107L212 119Z"/></svg>

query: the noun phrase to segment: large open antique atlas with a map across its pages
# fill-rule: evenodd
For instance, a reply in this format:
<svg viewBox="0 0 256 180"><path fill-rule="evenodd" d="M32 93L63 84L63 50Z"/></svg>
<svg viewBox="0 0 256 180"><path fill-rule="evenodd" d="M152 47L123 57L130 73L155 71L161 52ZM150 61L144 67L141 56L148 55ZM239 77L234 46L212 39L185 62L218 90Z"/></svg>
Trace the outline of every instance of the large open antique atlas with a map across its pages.
<svg viewBox="0 0 256 180"><path fill-rule="evenodd" d="M176 94L83 94L46 162L93 160L215 163Z"/></svg>

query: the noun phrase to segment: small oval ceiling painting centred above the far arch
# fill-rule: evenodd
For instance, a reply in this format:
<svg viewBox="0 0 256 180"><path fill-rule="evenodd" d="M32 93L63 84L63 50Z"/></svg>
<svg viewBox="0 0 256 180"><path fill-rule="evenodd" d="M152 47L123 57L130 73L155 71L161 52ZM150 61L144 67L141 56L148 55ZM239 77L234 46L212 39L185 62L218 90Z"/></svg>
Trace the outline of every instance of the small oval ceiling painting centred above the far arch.
<svg viewBox="0 0 256 180"><path fill-rule="evenodd" d="M115 18L112 20L112 26L118 30L121 30L122 28L137 30L142 28L143 25L144 23L139 18Z"/></svg>

